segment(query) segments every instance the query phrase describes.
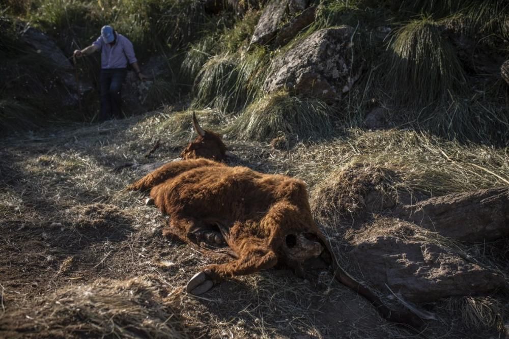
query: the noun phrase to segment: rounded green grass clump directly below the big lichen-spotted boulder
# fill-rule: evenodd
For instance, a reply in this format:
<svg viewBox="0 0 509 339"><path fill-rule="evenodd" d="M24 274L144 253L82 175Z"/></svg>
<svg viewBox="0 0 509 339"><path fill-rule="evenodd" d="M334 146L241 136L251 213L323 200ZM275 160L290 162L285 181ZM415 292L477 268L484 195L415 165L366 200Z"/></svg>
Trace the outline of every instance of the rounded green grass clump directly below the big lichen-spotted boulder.
<svg viewBox="0 0 509 339"><path fill-rule="evenodd" d="M279 132L299 139L322 138L332 133L331 108L319 99L297 98L281 91L246 107L232 131L240 138L263 141Z"/></svg>

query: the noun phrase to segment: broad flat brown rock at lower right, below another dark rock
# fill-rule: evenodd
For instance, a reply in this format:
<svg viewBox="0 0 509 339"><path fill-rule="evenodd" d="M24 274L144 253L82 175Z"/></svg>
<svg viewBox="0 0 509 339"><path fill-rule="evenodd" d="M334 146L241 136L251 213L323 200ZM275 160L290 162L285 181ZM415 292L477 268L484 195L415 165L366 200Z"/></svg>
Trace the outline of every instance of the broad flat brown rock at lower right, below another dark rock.
<svg viewBox="0 0 509 339"><path fill-rule="evenodd" d="M390 232L361 234L348 257L363 278L378 289L386 287L413 302L450 296L486 294L506 285L504 277L468 262L444 246L396 237ZM397 232L398 233L398 232Z"/></svg>

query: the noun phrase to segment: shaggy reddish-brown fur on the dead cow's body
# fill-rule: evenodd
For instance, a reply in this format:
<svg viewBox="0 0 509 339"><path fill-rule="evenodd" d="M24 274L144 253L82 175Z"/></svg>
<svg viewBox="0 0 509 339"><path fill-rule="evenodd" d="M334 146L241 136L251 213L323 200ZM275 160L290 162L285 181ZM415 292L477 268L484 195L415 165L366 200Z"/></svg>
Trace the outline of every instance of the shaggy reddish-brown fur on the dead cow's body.
<svg viewBox="0 0 509 339"><path fill-rule="evenodd" d="M167 178L166 181L164 179ZM161 212L170 216L165 234L194 240L218 228L238 260L209 265L216 279L250 274L287 264L300 269L281 250L287 234L318 234L305 184L281 175L206 160L165 164L130 189L148 190Z"/></svg>

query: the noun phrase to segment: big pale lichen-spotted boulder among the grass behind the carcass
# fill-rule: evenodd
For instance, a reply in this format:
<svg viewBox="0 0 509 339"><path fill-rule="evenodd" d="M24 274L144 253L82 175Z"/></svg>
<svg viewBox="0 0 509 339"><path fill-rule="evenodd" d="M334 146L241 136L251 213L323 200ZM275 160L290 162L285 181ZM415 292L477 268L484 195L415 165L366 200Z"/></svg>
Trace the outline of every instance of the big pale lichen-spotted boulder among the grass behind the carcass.
<svg viewBox="0 0 509 339"><path fill-rule="evenodd" d="M341 99L353 85L352 45L354 29L339 26L310 35L293 48L276 56L263 84L266 93L287 88L291 92L322 98Z"/></svg>

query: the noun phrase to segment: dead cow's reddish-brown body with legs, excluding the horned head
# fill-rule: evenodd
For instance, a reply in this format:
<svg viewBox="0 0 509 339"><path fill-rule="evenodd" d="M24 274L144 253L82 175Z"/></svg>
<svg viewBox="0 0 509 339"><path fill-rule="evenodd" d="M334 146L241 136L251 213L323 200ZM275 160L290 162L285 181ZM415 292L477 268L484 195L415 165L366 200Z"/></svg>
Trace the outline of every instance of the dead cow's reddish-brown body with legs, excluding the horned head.
<svg viewBox="0 0 509 339"><path fill-rule="evenodd" d="M276 264L299 274L306 259L322 255L336 279L371 301L385 318L412 325L421 321L413 313L391 312L337 264L300 180L196 159L167 163L129 189L150 189L156 207L169 215L165 235L196 244L224 242L236 254L236 260L208 265L194 275L187 286L190 293L204 293L216 281Z"/></svg>

